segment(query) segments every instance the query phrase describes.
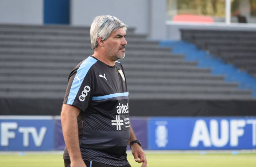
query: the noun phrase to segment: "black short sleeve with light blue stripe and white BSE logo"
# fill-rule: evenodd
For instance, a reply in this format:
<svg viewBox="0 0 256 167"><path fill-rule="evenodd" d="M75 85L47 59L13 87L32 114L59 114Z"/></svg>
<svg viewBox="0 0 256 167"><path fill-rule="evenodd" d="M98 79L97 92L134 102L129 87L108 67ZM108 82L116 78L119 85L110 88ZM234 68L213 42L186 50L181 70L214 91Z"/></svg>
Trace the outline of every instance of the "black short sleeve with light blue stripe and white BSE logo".
<svg viewBox="0 0 256 167"><path fill-rule="evenodd" d="M90 58L90 57L88 57ZM87 59L88 59L87 58ZM85 61L87 60L85 59ZM91 59L94 63L95 59ZM93 62L83 62L77 70L72 71L69 76L67 90L63 104L74 105L85 111L93 97L93 76L91 66Z"/></svg>

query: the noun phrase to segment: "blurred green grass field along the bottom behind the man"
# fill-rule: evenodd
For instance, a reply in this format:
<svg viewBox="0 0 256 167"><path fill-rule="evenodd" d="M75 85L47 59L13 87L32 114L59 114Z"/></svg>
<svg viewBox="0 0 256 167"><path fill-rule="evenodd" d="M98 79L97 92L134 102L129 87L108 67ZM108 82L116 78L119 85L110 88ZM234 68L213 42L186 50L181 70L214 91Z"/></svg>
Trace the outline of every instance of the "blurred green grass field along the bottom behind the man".
<svg viewBox="0 0 256 167"><path fill-rule="evenodd" d="M148 167L255 167L256 154L147 154ZM139 167L132 154L131 166ZM60 154L0 155L1 167L63 167Z"/></svg>

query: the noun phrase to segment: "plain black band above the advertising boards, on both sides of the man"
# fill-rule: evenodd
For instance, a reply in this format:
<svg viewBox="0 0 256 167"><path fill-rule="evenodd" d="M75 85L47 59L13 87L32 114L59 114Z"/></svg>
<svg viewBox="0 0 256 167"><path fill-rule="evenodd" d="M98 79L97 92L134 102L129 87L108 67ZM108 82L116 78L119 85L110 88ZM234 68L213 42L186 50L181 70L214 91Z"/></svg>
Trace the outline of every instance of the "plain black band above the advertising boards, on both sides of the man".
<svg viewBox="0 0 256 167"><path fill-rule="evenodd" d="M0 115L60 115L63 100L0 99ZM256 116L255 100L131 99L131 116Z"/></svg>

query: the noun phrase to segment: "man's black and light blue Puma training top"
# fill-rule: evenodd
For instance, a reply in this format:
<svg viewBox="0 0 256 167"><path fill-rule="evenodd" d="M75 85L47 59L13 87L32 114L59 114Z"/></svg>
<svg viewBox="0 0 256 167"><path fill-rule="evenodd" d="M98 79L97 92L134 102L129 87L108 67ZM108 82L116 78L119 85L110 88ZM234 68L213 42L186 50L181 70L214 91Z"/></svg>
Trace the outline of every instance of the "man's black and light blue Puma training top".
<svg viewBox="0 0 256 167"><path fill-rule="evenodd" d="M125 166L130 137L126 77L119 62L109 66L93 56L71 72L63 104L82 110L77 117L82 158ZM64 159L69 159L67 149Z"/></svg>

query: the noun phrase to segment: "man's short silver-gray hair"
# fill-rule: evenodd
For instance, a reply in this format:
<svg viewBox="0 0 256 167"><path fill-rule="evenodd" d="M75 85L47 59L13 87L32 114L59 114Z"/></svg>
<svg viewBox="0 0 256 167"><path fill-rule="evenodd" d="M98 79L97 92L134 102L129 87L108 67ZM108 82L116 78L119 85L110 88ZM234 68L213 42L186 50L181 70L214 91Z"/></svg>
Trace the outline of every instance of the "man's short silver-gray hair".
<svg viewBox="0 0 256 167"><path fill-rule="evenodd" d="M94 18L93 23L90 28L90 37L92 49L95 50L98 47L98 37L101 37L101 40L106 40L110 36L111 32L118 30L119 28L124 28L127 31L127 25L125 25L118 18L113 17L114 21L109 21L105 23L104 27L101 29L101 25L106 18L112 17L110 15L102 15Z"/></svg>

